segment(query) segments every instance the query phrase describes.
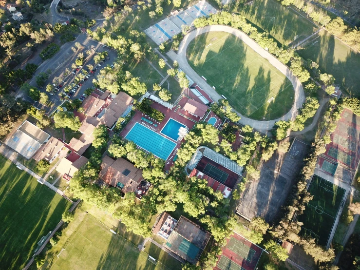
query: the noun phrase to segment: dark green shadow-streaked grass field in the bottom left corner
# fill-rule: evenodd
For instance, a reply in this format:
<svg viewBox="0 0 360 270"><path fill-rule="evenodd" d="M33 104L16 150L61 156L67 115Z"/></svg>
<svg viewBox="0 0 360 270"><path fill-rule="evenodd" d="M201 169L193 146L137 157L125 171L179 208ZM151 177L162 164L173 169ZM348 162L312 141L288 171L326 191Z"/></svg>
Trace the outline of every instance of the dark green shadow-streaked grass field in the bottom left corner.
<svg viewBox="0 0 360 270"><path fill-rule="evenodd" d="M22 269L70 205L0 155L0 268Z"/></svg>

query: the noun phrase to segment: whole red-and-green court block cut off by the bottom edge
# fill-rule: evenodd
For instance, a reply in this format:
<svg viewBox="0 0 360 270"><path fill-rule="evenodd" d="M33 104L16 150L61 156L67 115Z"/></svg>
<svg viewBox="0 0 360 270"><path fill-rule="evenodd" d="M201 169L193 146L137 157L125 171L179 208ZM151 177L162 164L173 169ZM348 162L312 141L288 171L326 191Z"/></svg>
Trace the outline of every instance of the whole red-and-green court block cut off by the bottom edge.
<svg viewBox="0 0 360 270"><path fill-rule="evenodd" d="M214 270L254 270L263 250L243 236L233 233L222 251Z"/></svg>

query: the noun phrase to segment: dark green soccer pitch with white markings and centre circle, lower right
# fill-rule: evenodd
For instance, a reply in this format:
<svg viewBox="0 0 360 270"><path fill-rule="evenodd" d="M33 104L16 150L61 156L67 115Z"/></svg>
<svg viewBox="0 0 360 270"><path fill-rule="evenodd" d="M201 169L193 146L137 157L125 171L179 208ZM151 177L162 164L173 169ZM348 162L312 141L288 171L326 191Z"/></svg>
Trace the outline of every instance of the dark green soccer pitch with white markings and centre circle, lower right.
<svg viewBox="0 0 360 270"><path fill-rule="evenodd" d="M345 190L314 175L308 192L314 198L298 216L303 222L301 234L315 238L317 243L326 246L330 232L338 214Z"/></svg>

